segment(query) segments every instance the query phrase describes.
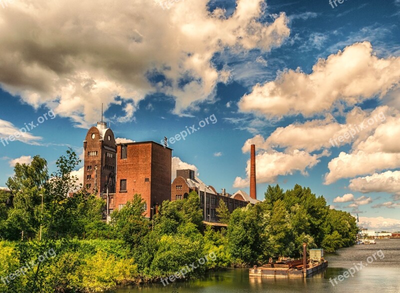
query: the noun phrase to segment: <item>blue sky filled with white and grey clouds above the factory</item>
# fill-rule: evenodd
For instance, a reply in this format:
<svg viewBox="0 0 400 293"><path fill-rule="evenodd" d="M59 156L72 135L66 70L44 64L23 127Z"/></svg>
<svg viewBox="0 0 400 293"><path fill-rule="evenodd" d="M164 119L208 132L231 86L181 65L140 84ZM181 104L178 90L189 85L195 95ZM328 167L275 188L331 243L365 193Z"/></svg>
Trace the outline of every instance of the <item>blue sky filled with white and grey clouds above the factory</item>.
<svg viewBox="0 0 400 293"><path fill-rule="evenodd" d="M254 143L259 200L298 183L400 230L399 20L400 0L0 0L0 186L83 158L103 104L119 141L187 133L173 174L248 192Z"/></svg>

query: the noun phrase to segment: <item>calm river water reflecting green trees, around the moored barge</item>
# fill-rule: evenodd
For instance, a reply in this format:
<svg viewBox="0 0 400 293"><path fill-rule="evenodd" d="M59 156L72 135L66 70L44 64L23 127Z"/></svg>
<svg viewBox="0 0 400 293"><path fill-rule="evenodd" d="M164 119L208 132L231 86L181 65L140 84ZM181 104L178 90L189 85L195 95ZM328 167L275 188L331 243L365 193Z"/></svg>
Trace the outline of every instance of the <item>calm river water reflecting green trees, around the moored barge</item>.
<svg viewBox="0 0 400 293"><path fill-rule="evenodd" d="M377 250L382 250L384 257L379 259ZM376 260L373 258L373 254ZM368 258L371 256L372 258ZM234 269L208 273L204 278L177 283L176 291L186 292L400 292L400 239L377 239L373 245L355 245L339 249L335 254L327 254L328 267L318 275L310 278L266 278L249 277L248 270ZM370 263L367 262L367 258ZM372 260L372 261L371 261ZM365 265L361 269L357 263ZM358 271L344 280L333 278L348 271L350 267L358 267ZM354 270L356 270L354 268ZM329 281L332 279L334 286ZM139 287L127 287L117 293L159 293L173 291L172 285L164 287L161 283Z"/></svg>

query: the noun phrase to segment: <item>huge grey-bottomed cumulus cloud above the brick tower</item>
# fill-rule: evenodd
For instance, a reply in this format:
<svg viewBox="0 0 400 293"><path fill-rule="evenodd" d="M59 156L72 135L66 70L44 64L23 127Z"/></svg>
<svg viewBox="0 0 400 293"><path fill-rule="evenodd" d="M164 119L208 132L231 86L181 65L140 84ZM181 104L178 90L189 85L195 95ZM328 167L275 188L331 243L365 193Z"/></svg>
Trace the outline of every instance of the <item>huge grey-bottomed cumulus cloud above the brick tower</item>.
<svg viewBox="0 0 400 293"><path fill-rule="evenodd" d="M172 96L173 112L183 114L213 100L217 82L229 79L212 63L215 53L267 52L289 36L284 13L259 21L263 2L236 0L225 16L198 0L169 9L151 0L18 0L0 9L0 86L82 127L98 119L101 103L120 105L116 119L131 120L154 92Z"/></svg>

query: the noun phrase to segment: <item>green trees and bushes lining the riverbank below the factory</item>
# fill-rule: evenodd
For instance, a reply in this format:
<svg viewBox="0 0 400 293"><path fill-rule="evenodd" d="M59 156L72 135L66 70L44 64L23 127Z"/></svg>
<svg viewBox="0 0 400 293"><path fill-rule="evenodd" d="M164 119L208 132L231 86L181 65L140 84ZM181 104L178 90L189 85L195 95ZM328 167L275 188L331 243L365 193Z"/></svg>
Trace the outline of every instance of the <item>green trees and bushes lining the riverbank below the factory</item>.
<svg viewBox="0 0 400 293"><path fill-rule="evenodd" d="M193 263L198 267L186 278L297 256L302 242L327 252L354 243L355 219L297 184L286 191L268 186L264 201L231 214L221 206L218 213L227 228L219 231L204 229L195 192L163 202L153 222L143 216L144 201L136 194L107 224L101 220L103 200L70 176L79 164L76 154L68 150L56 164L57 171L48 174L39 156L29 165L17 163L7 181L12 207L4 204L8 195L0 193L1 292L100 292L160 281ZM70 197L70 190L78 191ZM55 255L43 257L49 249ZM215 257L198 264L211 253ZM35 265L24 269L29 263Z"/></svg>

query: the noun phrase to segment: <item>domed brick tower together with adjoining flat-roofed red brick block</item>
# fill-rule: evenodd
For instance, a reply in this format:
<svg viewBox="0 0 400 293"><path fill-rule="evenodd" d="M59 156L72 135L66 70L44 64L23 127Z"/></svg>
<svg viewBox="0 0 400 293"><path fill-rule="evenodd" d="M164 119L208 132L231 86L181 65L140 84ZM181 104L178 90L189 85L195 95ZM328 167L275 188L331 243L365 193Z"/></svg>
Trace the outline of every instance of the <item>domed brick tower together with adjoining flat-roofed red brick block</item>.
<svg viewBox="0 0 400 293"><path fill-rule="evenodd" d="M148 218L170 199L171 148L153 141L116 143L103 121L87 131L83 148L84 184L106 201L104 218L135 193L145 200L143 213Z"/></svg>

